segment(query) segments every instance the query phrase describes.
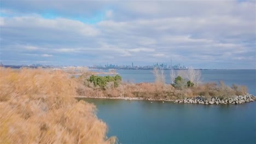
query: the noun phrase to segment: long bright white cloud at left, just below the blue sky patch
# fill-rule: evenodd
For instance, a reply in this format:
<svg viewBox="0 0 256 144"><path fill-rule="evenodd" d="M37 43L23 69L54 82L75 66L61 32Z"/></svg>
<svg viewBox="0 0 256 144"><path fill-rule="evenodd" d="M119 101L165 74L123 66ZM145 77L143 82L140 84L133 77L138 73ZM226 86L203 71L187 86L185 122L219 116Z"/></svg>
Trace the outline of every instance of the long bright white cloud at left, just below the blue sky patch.
<svg viewBox="0 0 256 144"><path fill-rule="evenodd" d="M48 32L50 36L55 36L54 33L59 32L87 37L99 34L99 31L93 26L70 19L44 19L40 16L16 16L11 18L4 17L2 19L5 23L4 28L24 28L28 33L32 30L35 34L37 31L47 30L46 32ZM68 35L61 36L67 37Z"/></svg>

